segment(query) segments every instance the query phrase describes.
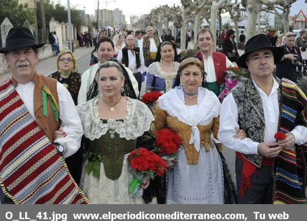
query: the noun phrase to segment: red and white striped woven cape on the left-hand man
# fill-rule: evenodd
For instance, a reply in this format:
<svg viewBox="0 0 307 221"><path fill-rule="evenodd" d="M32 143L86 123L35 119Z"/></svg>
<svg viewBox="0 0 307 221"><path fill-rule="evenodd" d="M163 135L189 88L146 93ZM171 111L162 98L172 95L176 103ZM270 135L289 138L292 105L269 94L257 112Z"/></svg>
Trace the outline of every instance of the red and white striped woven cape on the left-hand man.
<svg viewBox="0 0 307 221"><path fill-rule="evenodd" d="M87 204L12 81L0 83L0 185L15 204Z"/></svg>

